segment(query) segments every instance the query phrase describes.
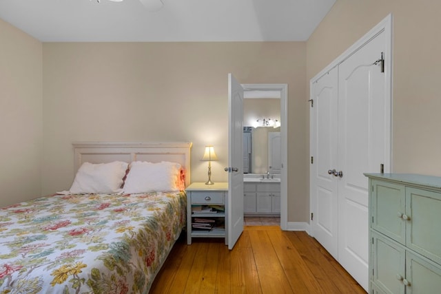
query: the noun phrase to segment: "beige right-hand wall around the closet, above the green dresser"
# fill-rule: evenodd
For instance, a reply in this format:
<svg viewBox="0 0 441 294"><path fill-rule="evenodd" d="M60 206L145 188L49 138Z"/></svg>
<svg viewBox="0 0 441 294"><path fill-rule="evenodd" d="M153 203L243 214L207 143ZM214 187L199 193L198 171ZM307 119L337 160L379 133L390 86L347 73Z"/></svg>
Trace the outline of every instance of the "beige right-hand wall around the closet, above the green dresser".
<svg viewBox="0 0 441 294"><path fill-rule="evenodd" d="M435 0L337 0L307 41L309 83L323 67L393 13L395 172L441 176L441 90L437 86L441 80L440 11L441 1ZM306 130L309 133L309 127Z"/></svg>

